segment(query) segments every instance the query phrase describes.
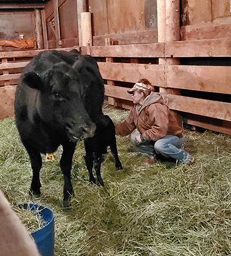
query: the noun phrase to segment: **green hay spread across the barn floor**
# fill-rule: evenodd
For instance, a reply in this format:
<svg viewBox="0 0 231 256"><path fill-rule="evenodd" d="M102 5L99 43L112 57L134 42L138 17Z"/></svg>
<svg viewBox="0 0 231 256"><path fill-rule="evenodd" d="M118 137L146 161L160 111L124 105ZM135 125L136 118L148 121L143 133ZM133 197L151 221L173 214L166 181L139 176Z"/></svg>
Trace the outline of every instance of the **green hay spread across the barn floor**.
<svg viewBox="0 0 231 256"><path fill-rule="evenodd" d="M113 121L128 111L106 107ZM144 166L145 155L129 137L117 137L123 170L111 153L102 164L104 187L89 184L83 142L73 158L71 209L62 207L59 160L43 163L41 197L31 199L31 168L13 118L0 122L0 182L12 205L33 202L55 216L55 255L230 255L231 138L211 131L185 130L192 166L158 161Z"/></svg>

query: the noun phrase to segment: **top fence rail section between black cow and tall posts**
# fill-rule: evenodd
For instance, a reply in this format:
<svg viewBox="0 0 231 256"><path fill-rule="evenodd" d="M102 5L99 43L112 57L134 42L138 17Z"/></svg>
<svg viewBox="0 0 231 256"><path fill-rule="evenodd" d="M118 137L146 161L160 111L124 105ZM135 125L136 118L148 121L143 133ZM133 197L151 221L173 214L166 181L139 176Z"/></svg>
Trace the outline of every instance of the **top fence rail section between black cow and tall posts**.
<svg viewBox="0 0 231 256"><path fill-rule="evenodd" d="M158 58L164 57L164 44L92 46L91 54L93 57Z"/></svg>

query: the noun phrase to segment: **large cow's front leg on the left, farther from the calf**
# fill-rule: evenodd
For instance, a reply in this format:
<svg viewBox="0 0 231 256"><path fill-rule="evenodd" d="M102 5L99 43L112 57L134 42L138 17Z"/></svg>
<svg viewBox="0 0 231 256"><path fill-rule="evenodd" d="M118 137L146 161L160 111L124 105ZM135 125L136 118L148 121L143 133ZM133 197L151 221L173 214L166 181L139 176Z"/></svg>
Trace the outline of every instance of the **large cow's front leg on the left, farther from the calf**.
<svg viewBox="0 0 231 256"><path fill-rule="evenodd" d="M26 150L28 151L28 154L30 156L31 168L33 171L33 177L31 181L29 193L31 195L35 195L36 197L39 197L41 195L41 192L40 192L41 182L40 182L39 173L42 167L42 158L39 151L33 150L28 147L26 147Z"/></svg>

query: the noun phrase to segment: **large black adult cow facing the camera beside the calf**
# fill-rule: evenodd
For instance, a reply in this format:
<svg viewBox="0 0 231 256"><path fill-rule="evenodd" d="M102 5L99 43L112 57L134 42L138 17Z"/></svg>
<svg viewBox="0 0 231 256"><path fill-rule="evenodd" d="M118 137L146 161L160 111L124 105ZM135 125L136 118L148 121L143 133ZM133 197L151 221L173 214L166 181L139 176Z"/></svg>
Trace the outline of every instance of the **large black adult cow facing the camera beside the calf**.
<svg viewBox="0 0 231 256"><path fill-rule="evenodd" d="M15 94L15 119L33 169L31 194L40 195L41 153L62 145L63 206L69 205L76 143L94 135L103 98L97 62L76 50L44 51L25 67Z"/></svg>

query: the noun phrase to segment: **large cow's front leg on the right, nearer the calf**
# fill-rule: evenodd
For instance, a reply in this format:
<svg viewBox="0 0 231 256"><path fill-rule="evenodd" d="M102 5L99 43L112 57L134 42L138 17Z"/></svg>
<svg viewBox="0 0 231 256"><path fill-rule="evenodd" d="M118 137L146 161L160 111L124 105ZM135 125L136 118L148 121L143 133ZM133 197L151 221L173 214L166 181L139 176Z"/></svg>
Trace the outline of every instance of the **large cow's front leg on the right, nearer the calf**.
<svg viewBox="0 0 231 256"><path fill-rule="evenodd" d="M63 154L60 160L60 168L62 170L64 179L63 207L70 206L70 197L73 195L73 187L71 182L71 166L75 147L76 143L68 143L67 145L63 145Z"/></svg>

